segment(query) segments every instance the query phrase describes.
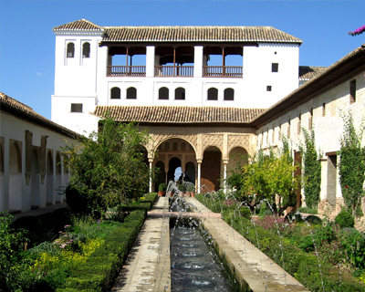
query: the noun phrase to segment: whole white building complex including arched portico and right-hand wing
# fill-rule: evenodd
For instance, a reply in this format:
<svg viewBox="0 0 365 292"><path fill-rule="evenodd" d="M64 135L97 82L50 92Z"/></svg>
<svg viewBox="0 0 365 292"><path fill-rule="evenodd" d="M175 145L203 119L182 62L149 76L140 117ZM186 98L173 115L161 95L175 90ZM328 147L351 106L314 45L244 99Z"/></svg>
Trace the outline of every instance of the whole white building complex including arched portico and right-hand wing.
<svg viewBox="0 0 365 292"><path fill-rule="evenodd" d="M339 211L340 113L350 110L360 128L364 46L329 68L299 68L302 41L267 26L110 27L82 19L53 31L52 120L89 131L109 112L148 128L149 164L162 170L150 190L177 167L197 187L217 190L233 154L280 147L282 136L298 161L302 128L314 129L323 152L319 209Z"/></svg>

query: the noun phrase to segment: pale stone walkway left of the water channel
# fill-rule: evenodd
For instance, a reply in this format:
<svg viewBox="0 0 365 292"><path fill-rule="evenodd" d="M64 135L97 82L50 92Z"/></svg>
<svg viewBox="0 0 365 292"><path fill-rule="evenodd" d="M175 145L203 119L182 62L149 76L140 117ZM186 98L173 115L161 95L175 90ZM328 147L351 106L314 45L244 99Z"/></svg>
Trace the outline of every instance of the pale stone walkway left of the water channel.
<svg viewBox="0 0 365 292"><path fill-rule="evenodd" d="M112 292L171 291L169 198L159 197Z"/></svg>

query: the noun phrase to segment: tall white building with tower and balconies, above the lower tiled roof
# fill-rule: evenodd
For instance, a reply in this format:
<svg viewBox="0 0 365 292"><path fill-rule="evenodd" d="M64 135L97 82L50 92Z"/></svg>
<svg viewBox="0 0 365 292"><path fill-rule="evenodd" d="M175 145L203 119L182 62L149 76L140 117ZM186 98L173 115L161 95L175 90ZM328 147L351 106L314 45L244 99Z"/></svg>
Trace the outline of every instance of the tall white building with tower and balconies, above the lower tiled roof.
<svg viewBox="0 0 365 292"><path fill-rule="evenodd" d="M270 26L81 19L53 31L52 120L78 132L97 129L89 112L98 105L266 109L298 86L302 41Z"/></svg>

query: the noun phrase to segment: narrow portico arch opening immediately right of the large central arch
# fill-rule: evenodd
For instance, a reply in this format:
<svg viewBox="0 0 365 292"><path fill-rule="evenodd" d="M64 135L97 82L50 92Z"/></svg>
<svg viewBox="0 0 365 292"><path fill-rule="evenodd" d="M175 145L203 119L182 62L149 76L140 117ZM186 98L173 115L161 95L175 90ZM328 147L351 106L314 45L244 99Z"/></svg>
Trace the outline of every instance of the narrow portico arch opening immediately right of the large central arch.
<svg viewBox="0 0 365 292"><path fill-rule="evenodd" d="M220 189L222 173L222 151L215 146L206 147L203 151L202 161L202 188L208 192Z"/></svg>

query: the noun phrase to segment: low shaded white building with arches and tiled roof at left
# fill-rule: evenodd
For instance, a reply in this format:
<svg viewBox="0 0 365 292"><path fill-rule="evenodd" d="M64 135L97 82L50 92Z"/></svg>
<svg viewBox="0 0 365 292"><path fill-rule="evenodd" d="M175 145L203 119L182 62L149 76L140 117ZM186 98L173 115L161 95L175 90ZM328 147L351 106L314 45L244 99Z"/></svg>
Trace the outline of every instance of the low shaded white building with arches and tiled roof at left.
<svg viewBox="0 0 365 292"><path fill-rule="evenodd" d="M61 147L77 137L0 92L0 212L63 202L69 173Z"/></svg>

